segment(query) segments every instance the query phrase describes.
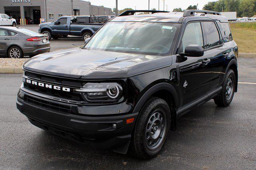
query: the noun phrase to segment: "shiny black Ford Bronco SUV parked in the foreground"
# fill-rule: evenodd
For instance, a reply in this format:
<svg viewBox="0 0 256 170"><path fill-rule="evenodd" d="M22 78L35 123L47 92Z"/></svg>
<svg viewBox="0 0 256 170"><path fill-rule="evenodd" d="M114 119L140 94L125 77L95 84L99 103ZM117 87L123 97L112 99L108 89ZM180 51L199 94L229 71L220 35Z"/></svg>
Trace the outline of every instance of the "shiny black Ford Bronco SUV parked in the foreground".
<svg viewBox="0 0 256 170"><path fill-rule="evenodd" d="M83 47L26 62L17 108L62 137L150 158L180 115L211 99L230 104L237 57L218 12L126 11Z"/></svg>

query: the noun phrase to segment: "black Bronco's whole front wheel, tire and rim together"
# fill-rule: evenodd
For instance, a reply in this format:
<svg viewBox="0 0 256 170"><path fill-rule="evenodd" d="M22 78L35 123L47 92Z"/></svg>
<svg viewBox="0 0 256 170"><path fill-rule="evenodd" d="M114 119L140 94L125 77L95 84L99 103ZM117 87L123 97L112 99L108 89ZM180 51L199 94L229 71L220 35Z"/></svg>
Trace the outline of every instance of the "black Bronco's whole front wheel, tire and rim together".
<svg viewBox="0 0 256 170"><path fill-rule="evenodd" d="M156 156L164 146L170 122L170 108L166 101L161 98L150 99L138 116L129 152L141 159Z"/></svg>

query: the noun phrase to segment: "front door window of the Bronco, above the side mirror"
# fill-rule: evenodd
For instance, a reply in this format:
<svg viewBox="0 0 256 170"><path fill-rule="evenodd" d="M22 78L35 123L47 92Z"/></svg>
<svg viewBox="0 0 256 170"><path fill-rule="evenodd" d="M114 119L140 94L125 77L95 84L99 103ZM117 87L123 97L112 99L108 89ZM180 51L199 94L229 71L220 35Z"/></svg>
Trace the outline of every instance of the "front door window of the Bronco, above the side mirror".
<svg viewBox="0 0 256 170"><path fill-rule="evenodd" d="M185 48L190 44L204 47L202 27L200 22L189 23L186 26L184 35L182 37L180 52L184 52Z"/></svg>

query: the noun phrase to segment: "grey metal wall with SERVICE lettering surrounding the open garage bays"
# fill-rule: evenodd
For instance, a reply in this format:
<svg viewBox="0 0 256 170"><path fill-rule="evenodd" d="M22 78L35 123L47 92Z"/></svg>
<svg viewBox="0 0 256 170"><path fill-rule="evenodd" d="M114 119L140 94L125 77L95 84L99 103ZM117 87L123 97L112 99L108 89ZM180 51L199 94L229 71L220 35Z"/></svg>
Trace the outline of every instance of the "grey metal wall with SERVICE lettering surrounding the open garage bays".
<svg viewBox="0 0 256 170"><path fill-rule="evenodd" d="M12 0L0 0L0 13L4 13L4 6L20 6L20 16L22 17L24 17L24 6L40 6L41 18L44 18L45 14L44 0L31 0L31 2L12 2Z"/></svg>

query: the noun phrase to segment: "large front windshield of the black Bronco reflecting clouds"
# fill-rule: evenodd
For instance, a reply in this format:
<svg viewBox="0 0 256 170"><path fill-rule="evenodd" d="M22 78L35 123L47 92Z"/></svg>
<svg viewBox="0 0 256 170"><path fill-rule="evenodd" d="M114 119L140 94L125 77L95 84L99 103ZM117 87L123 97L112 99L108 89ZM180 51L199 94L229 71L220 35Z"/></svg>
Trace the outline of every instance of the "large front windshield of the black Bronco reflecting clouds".
<svg viewBox="0 0 256 170"><path fill-rule="evenodd" d="M177 23L109 22L84 46L87 49L163 55L168 53Z"/></svg>

